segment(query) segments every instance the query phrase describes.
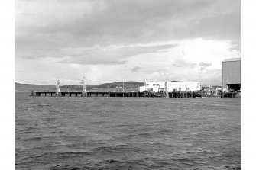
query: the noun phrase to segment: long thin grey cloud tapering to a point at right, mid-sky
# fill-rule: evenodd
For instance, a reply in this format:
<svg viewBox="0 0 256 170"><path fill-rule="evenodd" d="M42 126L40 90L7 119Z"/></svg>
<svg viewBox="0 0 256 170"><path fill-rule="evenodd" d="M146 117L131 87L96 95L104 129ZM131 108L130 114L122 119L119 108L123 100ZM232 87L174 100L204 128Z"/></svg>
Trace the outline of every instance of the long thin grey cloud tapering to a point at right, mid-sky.
<svg viewBox="0 0 256 170"><path fill-rule="evenodd" d="M131 56L136 56L143 53L162 53L162 50L170 50L177 47L177 44L134 44L129 46L112 45L109 47L102 47L95 45L93 47L79 47L79 48L64 48L60 50L48 50L45 53L38 53L31 50L31 53L20 53L20 57L26 59L45 59L55 58L57 62L61 63L76 63L82 65L116 65L125 64L127 59Z"/></svg>

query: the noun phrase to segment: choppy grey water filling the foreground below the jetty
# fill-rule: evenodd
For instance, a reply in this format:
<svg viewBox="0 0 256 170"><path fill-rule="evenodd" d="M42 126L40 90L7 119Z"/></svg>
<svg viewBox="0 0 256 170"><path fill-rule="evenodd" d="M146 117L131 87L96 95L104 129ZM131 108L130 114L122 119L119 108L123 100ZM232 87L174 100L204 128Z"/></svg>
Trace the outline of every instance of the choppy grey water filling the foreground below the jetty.
<svg viewBox="0 0 256 170"><path fill-rule="evenodd" d="M241 98L15 93L16 169L240 169Z"/></svg>

